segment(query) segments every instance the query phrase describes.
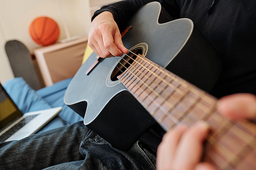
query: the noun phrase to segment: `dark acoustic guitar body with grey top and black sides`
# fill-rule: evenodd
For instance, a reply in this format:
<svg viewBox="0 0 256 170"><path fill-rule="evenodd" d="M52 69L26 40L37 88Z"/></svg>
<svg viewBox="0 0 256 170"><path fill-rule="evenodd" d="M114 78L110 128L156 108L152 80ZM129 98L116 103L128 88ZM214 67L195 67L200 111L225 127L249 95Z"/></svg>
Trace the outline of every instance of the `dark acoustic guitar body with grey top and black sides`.
<svg viewBox="0 0 256 170"><path fill-rule="evenodd" d="M163 11L157 2L143 6L127 23L132 29L122 38L124 46L139 49L146 58L209 91L219 77L220 59L190 19L159 23ZM96 56L93 53L77 71L66 90L65 104L114 147L129 149L156 121L113 78L120 57L104 59L86 75Z"/></svg>

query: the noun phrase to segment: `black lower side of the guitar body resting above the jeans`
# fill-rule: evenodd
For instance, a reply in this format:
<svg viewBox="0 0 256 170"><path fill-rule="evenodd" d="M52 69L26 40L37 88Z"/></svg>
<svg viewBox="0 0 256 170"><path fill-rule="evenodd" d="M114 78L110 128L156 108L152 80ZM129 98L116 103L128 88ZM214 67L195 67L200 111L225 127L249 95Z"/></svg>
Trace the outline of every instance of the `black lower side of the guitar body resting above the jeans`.
<svg viewBox="0 0 256 170"><path fill-rule="evenodd" d="M146 129L156 123L134 96L124 90L116 94L87 127L113 147L129 150Z"/></svg>

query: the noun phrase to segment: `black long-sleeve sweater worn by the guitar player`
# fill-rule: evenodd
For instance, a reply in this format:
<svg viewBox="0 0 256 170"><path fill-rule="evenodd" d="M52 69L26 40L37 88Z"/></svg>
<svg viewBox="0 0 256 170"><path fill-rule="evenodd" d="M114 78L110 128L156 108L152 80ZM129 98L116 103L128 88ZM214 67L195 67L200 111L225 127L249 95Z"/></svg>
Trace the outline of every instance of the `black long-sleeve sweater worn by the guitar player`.
<svg viewBox="0 0 256 170"><path fill-rule="evenodd" d="M104 6L119 26L148 0L127 0ZM165 10L177 18L190 18L221 57L222 72L211 94L221 96L248 92L256 94L256 1L247 0L159 0ZM92 18L92 19L93 19ZM156 129L156 128L154 128ZM141 140L156 149L161 135L149 130ZM157 137L155 137L157 136Z"/></svg>

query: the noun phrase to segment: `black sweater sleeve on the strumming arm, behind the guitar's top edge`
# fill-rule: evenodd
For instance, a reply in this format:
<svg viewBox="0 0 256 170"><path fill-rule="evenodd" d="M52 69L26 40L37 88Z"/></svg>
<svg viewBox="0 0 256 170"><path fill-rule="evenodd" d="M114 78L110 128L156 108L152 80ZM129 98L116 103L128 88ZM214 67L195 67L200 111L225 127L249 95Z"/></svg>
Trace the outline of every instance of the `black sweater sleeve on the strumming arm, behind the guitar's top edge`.
<svg viewBox="0 0 256 170"><path fill-rule="evenodd" d="M126 0L120 1L114 4L105 5L100 10L96 11L92 17L92 20L103 11L110 11L119 27L123 25L132 17L132 15L143 5L154 2L154 0ZM174 18L179 17L180 7L176 1L170 0L157 0Z"/></svg>

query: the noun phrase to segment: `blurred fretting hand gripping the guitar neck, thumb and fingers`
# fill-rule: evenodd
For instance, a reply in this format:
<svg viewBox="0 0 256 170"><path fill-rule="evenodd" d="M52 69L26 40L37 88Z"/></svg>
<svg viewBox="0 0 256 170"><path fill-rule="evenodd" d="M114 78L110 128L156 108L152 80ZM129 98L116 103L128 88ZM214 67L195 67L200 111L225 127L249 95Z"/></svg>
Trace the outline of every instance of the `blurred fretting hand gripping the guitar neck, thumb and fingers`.
<svg viewBox="0 0 256 170"><path fill-rule="evenodd" d="M256 96L238 93L225 96L218 101L218 110L232 120L256 118ZM200 162L202 142L208 133L208 125L198 122L187 128L180 125L168 131L157 150L157 169L215 169L207 162Z"/></svg>

